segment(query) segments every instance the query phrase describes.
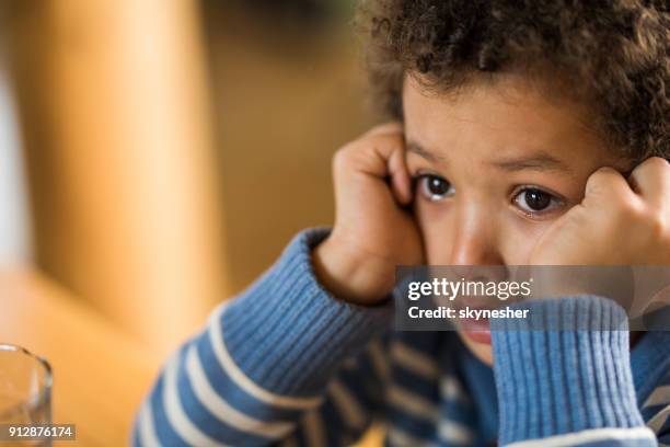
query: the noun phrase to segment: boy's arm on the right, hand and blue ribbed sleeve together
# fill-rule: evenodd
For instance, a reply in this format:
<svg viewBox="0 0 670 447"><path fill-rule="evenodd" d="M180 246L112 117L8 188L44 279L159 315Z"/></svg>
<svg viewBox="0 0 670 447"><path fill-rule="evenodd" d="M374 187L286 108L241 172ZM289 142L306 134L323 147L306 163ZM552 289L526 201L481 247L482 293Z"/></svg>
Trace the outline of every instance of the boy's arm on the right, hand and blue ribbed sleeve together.
<svg viewBox="0 0 670 447"><path fill-rule="evenodd" d="M543 232L530 264L670 265L669 191L670 164L657 157L627 179L597 170L581 203ZM644 421L652 426L654 420L638 409L623 308L592 295L525 306L532 307L528 321L492 321L501 444L655 446L667 439L663 416L652 431ZM557 329L547 329L552 321ZM614 323L622 324L612 330Z"/></svg>

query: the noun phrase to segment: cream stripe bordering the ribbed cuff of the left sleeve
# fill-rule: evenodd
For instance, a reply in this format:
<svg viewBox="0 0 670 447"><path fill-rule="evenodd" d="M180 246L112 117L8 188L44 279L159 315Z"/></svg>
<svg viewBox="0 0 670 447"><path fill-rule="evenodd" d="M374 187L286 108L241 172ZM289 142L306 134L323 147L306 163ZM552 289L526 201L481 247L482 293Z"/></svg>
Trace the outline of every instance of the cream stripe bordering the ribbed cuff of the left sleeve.
<svg viewBox="0 0 670 447"><path fill-rule="evenodd" d="M285 409L307 410L317 406L323 401L322 397L293 398L289 396L276 394L259 387L252 379L250 379L240 369L240 367L238 367L235 362L232 359L232 356L228 352L228 348L226 347L226 342L223 341L223 331L221 330L220 323L224 310L226 306L222 305L216 312L212 313L209 320L209 328L207 332L209 333L209 340L211 342L215 355L219 360L219 364L238 387L240 387L245 392L262 402Z"/></svg>

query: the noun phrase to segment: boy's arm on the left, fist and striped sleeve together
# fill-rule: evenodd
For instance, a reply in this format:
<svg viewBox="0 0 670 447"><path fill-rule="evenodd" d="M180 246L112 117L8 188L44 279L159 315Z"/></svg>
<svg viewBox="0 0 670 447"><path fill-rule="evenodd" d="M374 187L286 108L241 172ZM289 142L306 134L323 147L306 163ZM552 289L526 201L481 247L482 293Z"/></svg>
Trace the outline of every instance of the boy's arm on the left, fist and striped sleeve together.
<svg viewBox="0 0 670 447"><path fill-rule="evenodd" d="M136 444L263 445L293 433L342 445L365 429L382 394L370 362L363 354L332 379L390 326L395 266L423 260L403 154L397 123L337 151L331 234L297 238L175 354L142 406Z"/></svg>

